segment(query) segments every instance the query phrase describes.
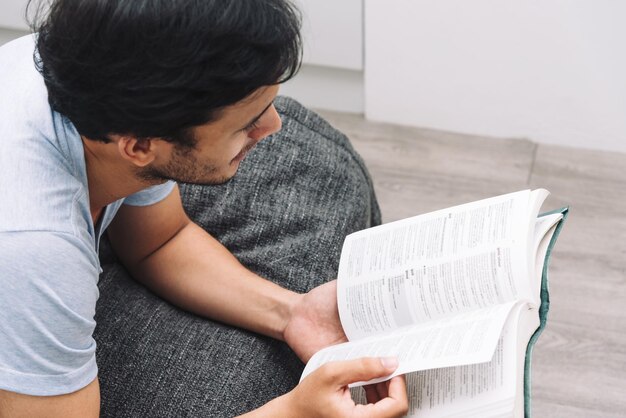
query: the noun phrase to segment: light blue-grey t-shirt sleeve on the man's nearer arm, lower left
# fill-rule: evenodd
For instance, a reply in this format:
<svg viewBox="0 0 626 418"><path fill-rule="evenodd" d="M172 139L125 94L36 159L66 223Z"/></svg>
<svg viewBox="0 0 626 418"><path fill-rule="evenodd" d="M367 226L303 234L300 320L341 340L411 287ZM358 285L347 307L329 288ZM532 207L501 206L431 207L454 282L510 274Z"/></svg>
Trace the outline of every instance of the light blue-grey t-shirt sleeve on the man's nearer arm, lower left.
<svg viewBox="0 0 626 418"><path fill-rule="evenodd" d="M0 232L0 389L71 393L93 381L98 261L55 232Z"/></svg>

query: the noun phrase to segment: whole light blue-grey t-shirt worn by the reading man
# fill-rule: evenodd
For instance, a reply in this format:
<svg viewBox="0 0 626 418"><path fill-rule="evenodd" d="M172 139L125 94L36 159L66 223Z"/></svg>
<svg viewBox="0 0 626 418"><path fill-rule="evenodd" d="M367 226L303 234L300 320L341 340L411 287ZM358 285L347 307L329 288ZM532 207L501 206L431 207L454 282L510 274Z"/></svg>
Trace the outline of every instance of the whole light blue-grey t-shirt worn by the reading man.
<svg viewBox="0 0 626 418"><path fill-rule="evenodd" d="M96 230L80 136L50 109L33 51L32 36L0 48L0 389L58 395L97 375L101 232L174 183L112 203Z"/></svg>

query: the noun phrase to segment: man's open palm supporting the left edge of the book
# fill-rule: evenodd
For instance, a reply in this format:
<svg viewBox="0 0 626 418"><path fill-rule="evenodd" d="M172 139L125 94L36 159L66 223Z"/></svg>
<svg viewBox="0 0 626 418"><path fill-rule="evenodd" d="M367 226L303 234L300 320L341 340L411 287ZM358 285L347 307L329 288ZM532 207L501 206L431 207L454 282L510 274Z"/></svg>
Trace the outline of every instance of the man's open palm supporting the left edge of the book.
<svg viewBox="0 0 626 418"><path fill-rule="evenodd" d="M336 280L301 295L283 338L305 363L322 348L347 341L339 322Z"/></svg>

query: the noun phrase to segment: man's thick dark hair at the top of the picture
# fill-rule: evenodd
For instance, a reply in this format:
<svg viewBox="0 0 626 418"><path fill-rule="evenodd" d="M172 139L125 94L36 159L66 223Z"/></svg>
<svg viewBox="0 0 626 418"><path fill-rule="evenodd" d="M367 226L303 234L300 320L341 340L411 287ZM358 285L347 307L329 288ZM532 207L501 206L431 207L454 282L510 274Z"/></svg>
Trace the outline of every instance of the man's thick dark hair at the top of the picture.
<svg viewBox="0 0 626 418"><path fill-rule="evenodd" d="M37 6L35 61L50 105L81 135L104 142L114 133L192 146L189 128L290 79L301 62L300 14L288 0Z"/></svg>

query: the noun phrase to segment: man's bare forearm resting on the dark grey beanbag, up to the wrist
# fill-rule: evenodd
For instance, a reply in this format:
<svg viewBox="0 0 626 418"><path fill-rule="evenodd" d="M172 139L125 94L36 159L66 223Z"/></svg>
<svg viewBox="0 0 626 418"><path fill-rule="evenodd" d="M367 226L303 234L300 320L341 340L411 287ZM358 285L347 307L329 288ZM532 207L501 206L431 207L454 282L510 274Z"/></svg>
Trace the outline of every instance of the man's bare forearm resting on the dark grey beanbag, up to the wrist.
<svg viewBox="0 0 626 418"><path fill-rule="evenodd" d="M303 295L252 273L189 220L178 187L151 206L124 205L109 238L133 277L172 303L277 339Z"/></svg>

